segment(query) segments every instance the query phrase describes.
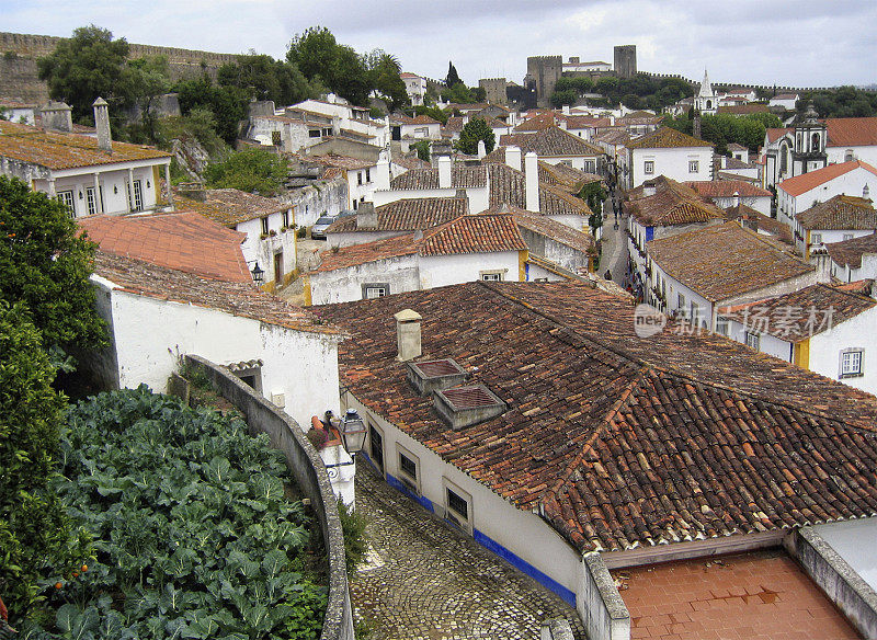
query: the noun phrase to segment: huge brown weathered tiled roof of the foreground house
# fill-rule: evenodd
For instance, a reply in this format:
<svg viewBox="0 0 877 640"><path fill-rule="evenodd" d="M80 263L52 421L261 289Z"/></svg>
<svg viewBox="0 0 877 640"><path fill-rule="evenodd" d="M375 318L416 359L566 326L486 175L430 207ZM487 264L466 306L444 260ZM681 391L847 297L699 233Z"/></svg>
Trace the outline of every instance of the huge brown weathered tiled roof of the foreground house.
<svg viewBox="0 0 877 640"><path fill-rule="evenodd" d="M509 409L454 431L396 361L422 320ZM640 339L626 297L577 283L470 283L321 307L353 339L342 385L369 411L582 551L782 530L877 513L877 399L742 344Z"/></svg>

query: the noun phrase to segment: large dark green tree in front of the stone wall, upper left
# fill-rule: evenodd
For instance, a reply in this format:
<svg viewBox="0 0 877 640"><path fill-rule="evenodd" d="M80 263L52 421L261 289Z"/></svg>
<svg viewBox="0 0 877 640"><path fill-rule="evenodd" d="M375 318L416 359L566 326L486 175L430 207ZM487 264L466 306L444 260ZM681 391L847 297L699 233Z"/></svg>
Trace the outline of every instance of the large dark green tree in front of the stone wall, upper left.
<svg viewBox="0 0 877 640"><path fill-rule="evenodd" d="M113 34L94 26L80 26L64 38L55 50L37 60L39 79L48 83L55 100L67 102L77 121L92 117L91 104L100 95L111 105L124 105L130 99L126 78L128 43L113 39Z"/></svg>

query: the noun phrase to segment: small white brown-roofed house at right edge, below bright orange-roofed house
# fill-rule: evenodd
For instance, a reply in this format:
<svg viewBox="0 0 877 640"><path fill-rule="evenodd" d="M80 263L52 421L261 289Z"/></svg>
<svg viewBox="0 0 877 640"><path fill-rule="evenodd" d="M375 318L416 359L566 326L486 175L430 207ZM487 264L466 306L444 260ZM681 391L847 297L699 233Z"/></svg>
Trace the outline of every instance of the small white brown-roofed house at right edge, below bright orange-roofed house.
<svg viewBox="0 0 877 640"><path fill-rule="evenodd" d="M835 195L795 216L795 242L805 259L822 260L825 243L842 242L877 230L877 212L870 199Z"/></svg>

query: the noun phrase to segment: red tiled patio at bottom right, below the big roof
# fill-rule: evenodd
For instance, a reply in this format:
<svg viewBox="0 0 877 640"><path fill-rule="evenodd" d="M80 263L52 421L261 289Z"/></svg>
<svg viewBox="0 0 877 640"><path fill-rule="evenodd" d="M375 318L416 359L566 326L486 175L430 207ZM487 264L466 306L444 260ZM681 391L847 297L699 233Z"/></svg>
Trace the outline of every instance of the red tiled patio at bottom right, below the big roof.
<svg viewBox="0 0 877 640"><path fill-rule="evenodd" d="M612 572L630 638L841 640L861 636L781 549Z"/></svg>

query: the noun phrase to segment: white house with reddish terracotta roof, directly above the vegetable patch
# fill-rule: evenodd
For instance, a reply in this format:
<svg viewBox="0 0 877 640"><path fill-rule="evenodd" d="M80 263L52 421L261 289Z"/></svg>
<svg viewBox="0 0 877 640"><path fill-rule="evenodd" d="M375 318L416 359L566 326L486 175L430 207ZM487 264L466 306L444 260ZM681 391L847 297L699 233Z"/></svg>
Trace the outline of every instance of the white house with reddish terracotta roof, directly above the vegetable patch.
<svg viewBox="0 0 877 640"><path fill-rule="evenodd" d="M103 387L163 391L191 353L231 368L305 431L315 413L338 412L341 332L259 290L242 233L198 214L80 225L100 245L92 283L111 346L88 362Z"/></svg>

